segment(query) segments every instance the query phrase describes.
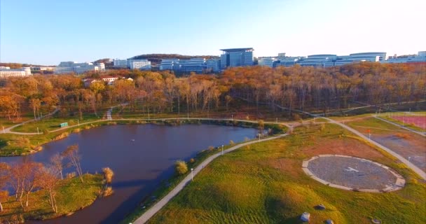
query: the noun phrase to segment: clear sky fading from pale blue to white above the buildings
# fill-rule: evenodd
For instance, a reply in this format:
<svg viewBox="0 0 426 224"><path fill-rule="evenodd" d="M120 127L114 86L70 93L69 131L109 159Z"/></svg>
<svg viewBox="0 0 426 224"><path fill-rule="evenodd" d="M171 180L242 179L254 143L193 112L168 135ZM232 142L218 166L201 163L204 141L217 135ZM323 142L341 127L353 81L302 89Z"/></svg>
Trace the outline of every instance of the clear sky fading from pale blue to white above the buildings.
<svg viewBox="0 0 426 224"><path fill-rule="evenodd" d="M0 0L0 62L426 50L424 0Z"/></svg>

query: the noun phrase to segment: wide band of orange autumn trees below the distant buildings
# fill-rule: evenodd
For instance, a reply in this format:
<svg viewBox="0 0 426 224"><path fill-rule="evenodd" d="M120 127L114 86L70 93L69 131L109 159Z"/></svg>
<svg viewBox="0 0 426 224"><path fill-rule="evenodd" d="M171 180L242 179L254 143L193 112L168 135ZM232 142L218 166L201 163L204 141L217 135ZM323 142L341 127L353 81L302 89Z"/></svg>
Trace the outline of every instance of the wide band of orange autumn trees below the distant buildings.
<svg viewBox="0 0 426 224"><path fill-rule="evenodd" d="M89 72L88 77L114 75L132 78L84 87L81 76L51 75L10 78L0 89L0 113L20 118L22 110L34 116L60 106L62 113L97 115L102 106L128 103L130 110L148 113L209 112L229 109L235 99L303 111L342 110L350 102L385 104L426 99L425 64L362 62L331 68L312 66L247 66L218 75L177 77L169 71L114 70ZM233 105L233 106L236 106Z"/></svg>

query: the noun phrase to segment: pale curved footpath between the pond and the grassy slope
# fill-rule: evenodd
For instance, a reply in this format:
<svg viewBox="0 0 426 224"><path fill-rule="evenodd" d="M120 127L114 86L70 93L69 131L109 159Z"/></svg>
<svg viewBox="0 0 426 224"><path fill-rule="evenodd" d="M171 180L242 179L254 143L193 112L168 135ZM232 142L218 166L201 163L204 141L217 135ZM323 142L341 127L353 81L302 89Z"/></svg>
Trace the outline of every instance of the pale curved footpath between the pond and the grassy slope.
<svg viewBox="0 0 426 224"><path fill-rule="evenodd" d="M262 141L270 141L273 139L278 139L281 137L285 137L288 134L280 134L278 136L275 137L270 137L267 139L261 139L261 140L256 140L256 141L249 141L243 144L239 144L237 146L233 146L231 148L228 148L227 150L224 151L225 153L229 153L231 151L234 151L237 148L241 148L243 146L248 146L250 144L255 144L255 143L259 143ZM204 160L202 163L200 163L200 165L198 165L198 167L195 167L195 169L193 169L193 176L197 175L198 172L200 172L204 167L206 167L210 162L212 162L214 159L218 158L219 156L221 156L221 152L216 153L214 155L211 155L209 158L207 158L206 160ZM181 183L179 183L175 188L173 188L172 191L170 191L170 193L168 193L167 195L165 195L165 197L163 197L163 199L161 199L159 202L157 202L156 204L153 205L153 207L151 207L150 209L148 209L147 211L145 211L144 214L142 214L142 216L140 216L139 218L137 218L137 220L135 221L135 224L142 224L142 223L146 223L146 221L149 220L149 218L151 218L152 216L154 216L158 211L160 211L160 209L162 209L165 204L167 204L167 202L169 202L170 200L172 200L172 198L174 196L176 196L182 189L184 189L184 187L191 182L191 173L189 173L184 180L181 181Z"/></svg>

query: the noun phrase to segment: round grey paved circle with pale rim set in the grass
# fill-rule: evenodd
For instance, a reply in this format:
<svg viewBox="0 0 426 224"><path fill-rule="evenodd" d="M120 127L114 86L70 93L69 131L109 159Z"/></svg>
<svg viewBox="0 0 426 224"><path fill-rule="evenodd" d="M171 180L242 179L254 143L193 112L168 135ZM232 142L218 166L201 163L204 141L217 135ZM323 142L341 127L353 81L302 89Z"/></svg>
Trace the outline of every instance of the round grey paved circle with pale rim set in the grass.
<svg viewBox="0 0 426 224"><path fill-rule="evenodd" d="M348 155L318 155L303 161L312 179L344 190L380 193L404 187L404 178L378 162Z"/></svg>

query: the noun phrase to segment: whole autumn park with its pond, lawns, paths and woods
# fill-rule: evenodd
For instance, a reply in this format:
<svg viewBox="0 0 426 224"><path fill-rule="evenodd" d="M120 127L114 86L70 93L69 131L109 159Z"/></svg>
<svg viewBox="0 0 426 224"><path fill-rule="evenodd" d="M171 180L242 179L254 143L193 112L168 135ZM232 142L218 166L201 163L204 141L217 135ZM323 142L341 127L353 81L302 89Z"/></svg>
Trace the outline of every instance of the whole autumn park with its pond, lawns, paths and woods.
<svg viewBox="0 0 426 224"><path fill-rule="evenodd" d="M27 209L13 200L16 190L6 187L0 218L300 223L303 216L310 223L425 222L418 216L426 212L421 90L392 98L393 89L377 92L374 76L364 80L369 87L363 90L357 77L348 76L355 83L330 91L332 85L308 87L291 74L274 80L275 72L297 72L315 83L308 69L266 70L230 69L219 78L128 71L135 83L88 88L76 76L11 81L6 90L26 98L1 95L10 106L1 104L0 162L29 160L47 167L53 155L78 145L81 168L64 168L64 174L77 175L55 189L77 189L87 200L76 204L57 193L60 212L55 212L45 198L48 191L36 187ZM263 72L267 75L256 76ZM327 72L336 83L346 81ZM39 83L41 95L15 87L29 82ZM277 82L287 84L277 90ZM353 88L365 94L353 96ZM186 167L180 172L174 169L177 160ZM106 184L104 167L114 170L112 183ZM111 195L102 197L107 188ZM34 209L41 212L34 215ZM90 216L93 212L99 216Z"/></svg>

